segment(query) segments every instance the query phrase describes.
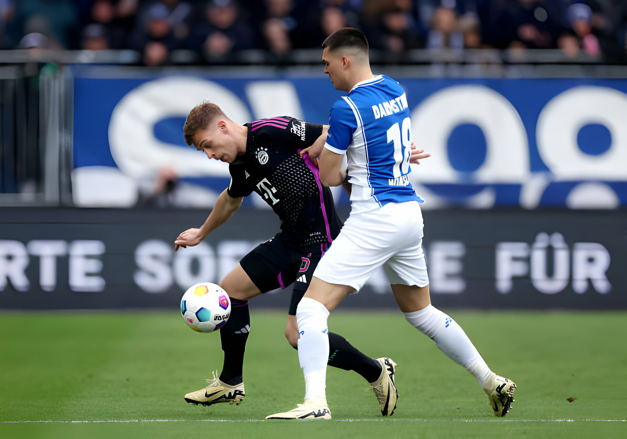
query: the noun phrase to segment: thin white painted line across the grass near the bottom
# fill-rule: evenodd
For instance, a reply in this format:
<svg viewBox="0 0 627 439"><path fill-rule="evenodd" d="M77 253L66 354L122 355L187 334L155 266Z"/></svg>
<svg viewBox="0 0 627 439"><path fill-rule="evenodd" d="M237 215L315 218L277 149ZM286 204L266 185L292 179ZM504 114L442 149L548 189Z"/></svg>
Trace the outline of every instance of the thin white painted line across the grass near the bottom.
<svg viewBox="0 0 627 439"><path fill-rule="evenodd" d="M105 420L105 421L2 421L3 424L22 423L101 423L101 422L265 422L265 419L133 419L133 420ZM334 419L336 422L627 422L624 419Z"/></svg>

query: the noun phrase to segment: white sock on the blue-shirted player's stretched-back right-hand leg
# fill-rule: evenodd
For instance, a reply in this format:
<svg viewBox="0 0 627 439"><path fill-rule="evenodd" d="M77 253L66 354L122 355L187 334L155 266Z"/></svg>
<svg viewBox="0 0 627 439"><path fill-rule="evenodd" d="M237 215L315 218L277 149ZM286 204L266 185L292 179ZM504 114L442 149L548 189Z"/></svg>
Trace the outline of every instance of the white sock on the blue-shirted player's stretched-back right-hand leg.
<svg viewBox="0 0 627 439"><path fill-rule="evenodd" d="M428 338L455 363L464 366L477 378L480 386L485 385L492 371L472 344L470 338L453 319L436 307L415 312L403 312L407 321Z"/></svg>

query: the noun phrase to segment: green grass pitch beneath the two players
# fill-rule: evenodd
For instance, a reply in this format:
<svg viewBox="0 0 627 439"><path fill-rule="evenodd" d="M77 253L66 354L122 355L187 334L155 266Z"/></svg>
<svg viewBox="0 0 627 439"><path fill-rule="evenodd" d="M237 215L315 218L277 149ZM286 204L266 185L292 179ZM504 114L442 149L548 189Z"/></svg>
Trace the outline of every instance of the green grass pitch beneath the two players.
<svg viewBox="0 0 627 439"><path fill-rule="evenodd" d="M203 407L183 396L221 369L219 336L191 331L177 312L6 312L0 437L627 436L627 422L591 421L627 419L627 312L450 315L491 368L517 383L506 418L495 418L473 377L399 312L330 317L331 331L398 363L400 393L396 413L384 420L366 381L329 368L330 421L263 420L295 407L304 392L298 355L283 338L283 313L251 314L243 403Z"/></svg>

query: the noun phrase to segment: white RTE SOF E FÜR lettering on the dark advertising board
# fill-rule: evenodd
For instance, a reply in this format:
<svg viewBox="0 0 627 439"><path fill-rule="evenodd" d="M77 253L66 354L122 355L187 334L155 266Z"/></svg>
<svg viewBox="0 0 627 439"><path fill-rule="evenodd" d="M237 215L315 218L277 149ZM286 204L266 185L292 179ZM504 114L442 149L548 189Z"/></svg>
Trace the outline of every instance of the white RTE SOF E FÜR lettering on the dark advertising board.
<svg viewBox="0 0 627 439"><path fill-rule="evenodd" d="M161 239L149 239L137 245L134 252L134 283L149 293L167 291L176 284L182 290L198 282L219 282L260 242L224 240L216 250L205 242L174 252ZM460 294L466 290L463 277L467 249L461 241L434 241L426 252L430 289L435 294ZM101 292L107 282L103 277L101 240L0 240L0 291L9 282L16 291L28 291L31 281L26 268L39 259L39 284L43 291L58 286L58 258L68 258L68 284L71 291ZM35 261L36 261L35 259ZM549 269L552 260L552 273ZM498 242L495 247L495 289L508 294L515 289L518 277L529 277L532 286L544 294L564 291L568 284L578 294L590 286L600 294L611 291L606 276L611 256L598 242L575 242L572 249L559 232L540 232L532 243ZM379 276L381 277L381 276ZM384 276L383 276L384 277ZM387 279L373 276L369 286L377 294L387 291Z"/></svg>

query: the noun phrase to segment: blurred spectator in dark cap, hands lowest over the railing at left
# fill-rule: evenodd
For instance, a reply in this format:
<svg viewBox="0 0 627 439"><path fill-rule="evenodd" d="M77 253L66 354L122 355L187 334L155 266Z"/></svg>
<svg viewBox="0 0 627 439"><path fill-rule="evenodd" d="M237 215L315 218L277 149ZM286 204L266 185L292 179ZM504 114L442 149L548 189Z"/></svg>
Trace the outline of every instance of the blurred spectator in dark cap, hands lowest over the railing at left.
<svg viewBox="0 0 627 439"><path fill-rule="evenodd" d="M144 52L144 63L157 66L166 62L170 51L186 46L192 7L177 0L152 3L140 12L130 36L131 48Z"/></svg>

